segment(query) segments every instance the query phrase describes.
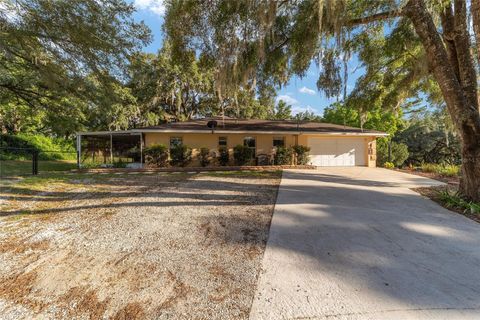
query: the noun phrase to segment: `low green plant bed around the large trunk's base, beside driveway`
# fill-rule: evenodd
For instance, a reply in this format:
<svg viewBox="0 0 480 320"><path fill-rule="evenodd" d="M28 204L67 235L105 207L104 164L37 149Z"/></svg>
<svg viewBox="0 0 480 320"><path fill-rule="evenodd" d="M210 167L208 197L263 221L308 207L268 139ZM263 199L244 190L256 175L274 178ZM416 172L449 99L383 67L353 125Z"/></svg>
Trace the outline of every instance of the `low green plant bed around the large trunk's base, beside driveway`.
<svg viewBox="0 0 480 320"><path fill-rule="evenodd" d="M480 223L480 203L465 200L458 193L457 185L447 184L446 186L422 187L412 190L430 198L446 209Z"/></svg>

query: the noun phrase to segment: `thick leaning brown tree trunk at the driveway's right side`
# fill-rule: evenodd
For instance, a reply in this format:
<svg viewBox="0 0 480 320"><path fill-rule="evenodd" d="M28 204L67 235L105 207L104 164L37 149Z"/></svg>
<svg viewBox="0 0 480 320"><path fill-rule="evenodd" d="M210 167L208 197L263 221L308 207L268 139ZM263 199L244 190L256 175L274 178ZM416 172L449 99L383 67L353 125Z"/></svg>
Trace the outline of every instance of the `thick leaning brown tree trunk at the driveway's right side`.
<svg viewBox="0 0 480 320"><path fill-rule="evenodd" d="M449 62L449 55L437 32L432 16L423 0L410 0L403 13L413 23L425 48L428 63L437 80L448 112L462 141L462 178L460 191L480 202L480 112L473 60L466 30L465 3L455 1L455 50L458 74ZM462 19L465 18L465 21ZM465 28L465 29L464 29Z"/></svg>

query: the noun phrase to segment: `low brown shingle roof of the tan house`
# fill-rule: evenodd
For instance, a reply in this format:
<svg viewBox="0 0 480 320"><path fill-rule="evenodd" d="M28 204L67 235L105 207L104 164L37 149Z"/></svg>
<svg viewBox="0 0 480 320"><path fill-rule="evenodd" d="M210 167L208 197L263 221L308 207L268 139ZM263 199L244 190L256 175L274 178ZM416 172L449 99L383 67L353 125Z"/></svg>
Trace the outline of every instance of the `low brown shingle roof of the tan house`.
<svg viewBox="0 0 480 320"><path fill-rule="evenodd" d="M372 135L385 135L376 130L361 130L360 128L348 127L338 124L296 121L296 120L258 120L258 119L234 119L225 117L195 119L186 122L171 122L158 126L140 128L141 131L211 131L207 126L209 121L216 121L216 131L256 131L256 132L314 132L314 133L362 133Z"/></svg>

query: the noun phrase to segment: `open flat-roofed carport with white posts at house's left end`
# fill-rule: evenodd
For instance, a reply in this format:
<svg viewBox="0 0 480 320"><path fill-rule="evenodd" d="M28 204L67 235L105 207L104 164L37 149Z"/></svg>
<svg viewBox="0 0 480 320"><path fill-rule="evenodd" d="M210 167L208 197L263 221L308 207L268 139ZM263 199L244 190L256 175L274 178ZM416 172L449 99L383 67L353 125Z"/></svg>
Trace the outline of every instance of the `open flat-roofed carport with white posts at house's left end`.
<svg viewBox="0 0 480 320"><path fill-rule="evenodd" d="M77 133L77 166L143 166L143 135L135 131Z"/></svg>

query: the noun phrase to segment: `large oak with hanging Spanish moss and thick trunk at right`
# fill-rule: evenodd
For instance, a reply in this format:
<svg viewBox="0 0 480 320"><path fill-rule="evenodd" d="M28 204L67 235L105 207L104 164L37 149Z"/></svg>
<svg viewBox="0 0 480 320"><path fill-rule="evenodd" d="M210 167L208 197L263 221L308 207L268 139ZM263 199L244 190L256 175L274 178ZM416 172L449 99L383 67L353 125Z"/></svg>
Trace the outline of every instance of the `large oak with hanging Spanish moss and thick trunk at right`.
<svg viewBox="0 0 480 320"><path fill-rule="evenodd" d="M319 90L346 94L349 57L361 52L371 56L364 63L375 64L372 57L379 54L365 51L362 41L374 48L398 31L390 47L380 46L376 60L384 68L371 73L376 80L364 78L354 94L366 88L377 97L388 96L385 101L397 99L399 107L419 91L439 88L461 138L461 192L480 201L479 1L172 0L167 8L168 38L180 51L193 48L216 61L219 93L258 80L282 85L293 74L305 75L313 61L321 65ZM384 86L374 90L372 83Z"/></svg>

